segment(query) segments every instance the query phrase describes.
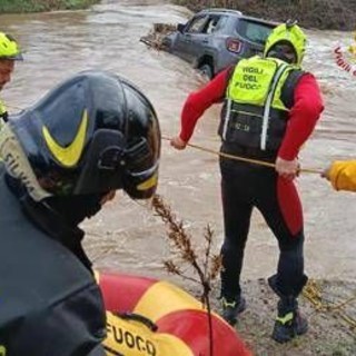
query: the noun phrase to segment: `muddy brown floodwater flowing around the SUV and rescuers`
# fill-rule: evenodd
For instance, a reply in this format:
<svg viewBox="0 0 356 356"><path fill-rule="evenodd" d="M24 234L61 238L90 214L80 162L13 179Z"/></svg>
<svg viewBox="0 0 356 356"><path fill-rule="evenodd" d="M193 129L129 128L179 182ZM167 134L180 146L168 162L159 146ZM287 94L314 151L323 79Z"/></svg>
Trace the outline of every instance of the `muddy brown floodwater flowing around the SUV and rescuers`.
<svg viewBox="0 0 356 356"><path fill-rule="evenodd" d="M155 22L184 22L185 8L165 1L103 1L87 11L1 14L0 28L19 39L26 60L18 63L3 99L17 111L36 102L61 80L85 69L117 72L139 86L158 112L166 137L177 134L187 95L204 79L174 56L139 41ZM325 168L335 159L356 157L356 77L339 69L333 57L337 42L353 33L308 31L305 68L318 78L326 109L313 138L300 154L304 168ZM217 149L219 107L198 122L192 144ZM356 195L336 192L317 174L303 174L306 270L309 277L356 280ZM215 249L222 239L217 156L162 141L158 192L185 221L197 250L209 224ZM149 205L118 194L95 218L83 222L86 248L98 268L170 279L162 260L171 256L166 228ZM276 268L277 245L258 211L254 215L243 278L268 277Z"/></svg>

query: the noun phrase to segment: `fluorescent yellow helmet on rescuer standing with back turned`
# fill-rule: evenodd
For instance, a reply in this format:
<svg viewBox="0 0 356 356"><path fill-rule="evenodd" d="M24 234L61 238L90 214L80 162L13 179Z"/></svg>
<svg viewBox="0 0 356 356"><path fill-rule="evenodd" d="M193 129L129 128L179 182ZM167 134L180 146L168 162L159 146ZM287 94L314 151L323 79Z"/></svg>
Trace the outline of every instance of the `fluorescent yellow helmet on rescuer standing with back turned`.
<svg viewBox="0 0 356 356"><path fill-rule="evenodd" d="M279 43L288 43L294 48L296 55L296 65L300 66L307 38L304 31L296 22L287 21L277 26L267 38L264 57L268 57L270 50Z"/></svg>

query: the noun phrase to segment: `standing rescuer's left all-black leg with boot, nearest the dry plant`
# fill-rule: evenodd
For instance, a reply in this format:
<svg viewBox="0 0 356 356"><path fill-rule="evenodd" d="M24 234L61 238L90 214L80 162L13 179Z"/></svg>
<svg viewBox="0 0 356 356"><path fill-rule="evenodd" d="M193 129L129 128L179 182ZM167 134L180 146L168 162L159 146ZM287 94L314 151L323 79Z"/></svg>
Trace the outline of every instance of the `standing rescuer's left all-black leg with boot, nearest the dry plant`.
<svg viewBox="0 0 356 356"><path fill-rule="evenodd" d="M222 270L221 299L222 317L234 325L237 314L245 309L241 297L240 273L248 236L253 206L244 200L238 177L222 175L221 198L225 239L221 246Z"/></svg>

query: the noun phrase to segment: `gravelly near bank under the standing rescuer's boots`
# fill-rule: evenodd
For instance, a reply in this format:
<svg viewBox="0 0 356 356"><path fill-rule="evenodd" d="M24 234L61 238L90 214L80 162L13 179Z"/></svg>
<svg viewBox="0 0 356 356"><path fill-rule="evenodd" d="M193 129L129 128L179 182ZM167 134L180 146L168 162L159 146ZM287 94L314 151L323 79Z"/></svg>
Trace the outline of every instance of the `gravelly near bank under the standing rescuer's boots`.
<svg viewBox="0 0 356 356"><path fill-rule="evenodd" d="M313 290L315 286L317 291ZM270 337L277 296L264 278L244 280L247 308L239 315L236 332L256 356L356 355L356 309L352 299L355 288L355 283L340 280L317 280L309 284L309 288L305 288L299 298L300 310L309 323L308 333L281 345ZM197 290L190 291L198 296ZM212 308L220 312L218 288L212 291Z"/></svg>

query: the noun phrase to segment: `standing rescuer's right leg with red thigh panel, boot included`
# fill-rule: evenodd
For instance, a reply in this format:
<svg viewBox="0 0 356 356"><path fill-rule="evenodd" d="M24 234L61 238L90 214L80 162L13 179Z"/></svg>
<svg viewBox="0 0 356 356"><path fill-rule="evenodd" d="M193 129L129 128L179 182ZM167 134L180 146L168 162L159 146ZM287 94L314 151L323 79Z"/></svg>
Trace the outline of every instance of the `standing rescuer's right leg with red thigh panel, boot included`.
<svg viewBox="0 0 356 356"><path fill-rule="evenodd" d="M280 298L273 338L284 343L307 330L307 322L300 316L297 303L307 277L304 274L303 211L296 187L283 178L275 177L274 180L261 195L258 208L278 239L277 274L268 283Z"/></svg>

